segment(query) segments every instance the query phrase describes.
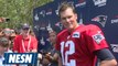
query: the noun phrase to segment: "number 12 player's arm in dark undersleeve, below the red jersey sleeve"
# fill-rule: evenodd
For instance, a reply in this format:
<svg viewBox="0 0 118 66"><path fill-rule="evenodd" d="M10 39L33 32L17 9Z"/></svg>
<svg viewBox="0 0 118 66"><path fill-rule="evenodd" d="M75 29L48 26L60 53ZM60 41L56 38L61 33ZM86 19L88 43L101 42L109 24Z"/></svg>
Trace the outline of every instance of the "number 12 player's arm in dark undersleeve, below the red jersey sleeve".
<svg viewBox="0 0 118 66"><path fill-rule="evenodd" d="M117 66L117 62L108 48L104 48L95 52L100 59L100 66Z"/></svg>

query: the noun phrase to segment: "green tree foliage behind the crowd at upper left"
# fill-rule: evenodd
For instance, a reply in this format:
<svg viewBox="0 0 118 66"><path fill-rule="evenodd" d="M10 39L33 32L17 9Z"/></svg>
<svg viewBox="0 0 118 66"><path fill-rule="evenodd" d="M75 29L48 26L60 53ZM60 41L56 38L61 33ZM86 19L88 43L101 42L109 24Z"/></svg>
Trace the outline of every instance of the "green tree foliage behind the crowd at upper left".
<svg viewBox="0 0 118 66"><path fill-rule="evenodd" d="M32 24L33 9L53 0L0 0L0 18L9 18L7 23L0 23L0 28L20 28L21 23Z"/></svg>

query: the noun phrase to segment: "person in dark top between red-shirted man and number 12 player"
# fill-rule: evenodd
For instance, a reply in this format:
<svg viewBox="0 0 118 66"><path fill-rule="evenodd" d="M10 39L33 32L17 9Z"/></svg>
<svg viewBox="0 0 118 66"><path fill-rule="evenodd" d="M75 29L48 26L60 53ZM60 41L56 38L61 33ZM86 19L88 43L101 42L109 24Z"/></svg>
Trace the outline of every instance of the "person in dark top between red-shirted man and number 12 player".
<svg viewBox="0 0 118 66"><path fill-rule="evenodd" d="M62 66L61 54L55 50L56 44L56 32L49 31L49 38L51 42L51 47L49 47L45 55L43 55L42 64L43 66Z"/></svg>

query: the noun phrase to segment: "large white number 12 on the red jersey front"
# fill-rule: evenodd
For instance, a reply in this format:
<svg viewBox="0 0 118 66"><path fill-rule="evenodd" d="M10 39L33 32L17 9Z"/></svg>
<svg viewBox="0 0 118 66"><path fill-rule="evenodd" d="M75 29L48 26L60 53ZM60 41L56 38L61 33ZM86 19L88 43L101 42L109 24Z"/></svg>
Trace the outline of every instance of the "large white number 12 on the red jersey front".
<svg viewBox="0 0 118 66"><path fill-rule="evenodd" d="M65 51L64 48L68 47L68 51ZM68 55L72 55L75 53L75 44L73 41L67 41L67 42L62 42L61 43L61 54L62 54L62 61L63 65L65 66L76 66L76 61L75 59L69 59L68 62Z"/></svg>

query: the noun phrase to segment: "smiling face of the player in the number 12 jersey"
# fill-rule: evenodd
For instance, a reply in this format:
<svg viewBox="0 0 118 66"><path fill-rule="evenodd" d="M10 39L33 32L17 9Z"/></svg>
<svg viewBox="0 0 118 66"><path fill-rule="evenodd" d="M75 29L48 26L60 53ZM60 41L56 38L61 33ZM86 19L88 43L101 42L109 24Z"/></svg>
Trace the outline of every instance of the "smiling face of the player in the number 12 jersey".
<svg viewBox="0 0 118 66"><path fill-rule="evenodd" d="M77 14L71 8L61 12L61 22L67 30L74 30L77 24Z"/></svg>

